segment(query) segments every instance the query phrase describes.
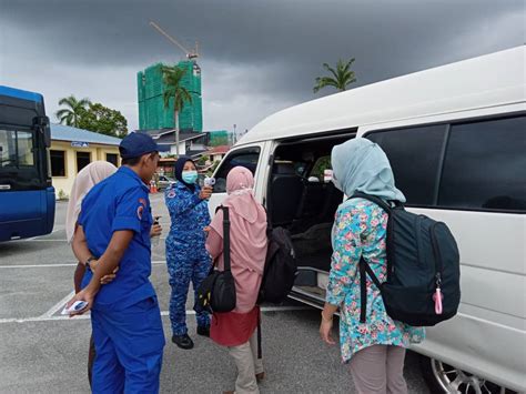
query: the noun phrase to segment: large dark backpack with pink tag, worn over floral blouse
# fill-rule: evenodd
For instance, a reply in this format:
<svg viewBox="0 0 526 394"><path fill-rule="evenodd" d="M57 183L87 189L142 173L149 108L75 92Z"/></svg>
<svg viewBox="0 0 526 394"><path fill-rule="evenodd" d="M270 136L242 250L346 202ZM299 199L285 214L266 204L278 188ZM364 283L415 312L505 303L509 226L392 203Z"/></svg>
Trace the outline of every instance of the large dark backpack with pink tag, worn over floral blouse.
<svg viewBox="0 0 526 394"><path fill-rule="evenodd" d="M461 257L447 225L407 212L398 202L391 206L364 193L354 198L372 201L390 215L387 281L380 283L363 256L360 261L361 322L365 323L366 317L366 274L380 289L392 319L413 326L431 326L453 317L461 302Z"/></svg>

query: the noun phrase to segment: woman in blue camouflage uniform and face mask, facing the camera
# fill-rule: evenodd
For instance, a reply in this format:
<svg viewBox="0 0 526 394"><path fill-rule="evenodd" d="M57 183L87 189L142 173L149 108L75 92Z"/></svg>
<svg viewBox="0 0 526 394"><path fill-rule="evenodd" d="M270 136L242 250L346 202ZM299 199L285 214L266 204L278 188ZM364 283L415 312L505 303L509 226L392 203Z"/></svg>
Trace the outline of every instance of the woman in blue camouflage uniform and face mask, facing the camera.
<svg viewBox="0 0 526 394"><path fill-rule="evenodd" d="M172 342L181 348L192 348L192 339L186 329L186 297L190 281L195 292L211 267L210 255L204 247L210 224L208 200L212 188L198 185L195 163L186 156L175 162L178 182L164 194L171 218L170 234L166 238L166 264L172 295L170 299L170 321ZM210 316L196 312L198 334L210 335Z"/></svg>

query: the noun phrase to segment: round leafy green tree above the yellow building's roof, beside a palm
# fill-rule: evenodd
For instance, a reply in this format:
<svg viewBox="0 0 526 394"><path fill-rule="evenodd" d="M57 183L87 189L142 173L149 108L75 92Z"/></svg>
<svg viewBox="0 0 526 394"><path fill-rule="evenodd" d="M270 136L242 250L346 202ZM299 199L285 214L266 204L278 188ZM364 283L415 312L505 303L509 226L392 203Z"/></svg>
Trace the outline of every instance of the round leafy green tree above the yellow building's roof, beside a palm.
<svg viewBox="0 0 526 394"><path fill-rule="evenodd" d="M122 113L100 102L90 103L88 109L80 112L78 127L117 138L124 138L128 134L128 121Z"/></svg>

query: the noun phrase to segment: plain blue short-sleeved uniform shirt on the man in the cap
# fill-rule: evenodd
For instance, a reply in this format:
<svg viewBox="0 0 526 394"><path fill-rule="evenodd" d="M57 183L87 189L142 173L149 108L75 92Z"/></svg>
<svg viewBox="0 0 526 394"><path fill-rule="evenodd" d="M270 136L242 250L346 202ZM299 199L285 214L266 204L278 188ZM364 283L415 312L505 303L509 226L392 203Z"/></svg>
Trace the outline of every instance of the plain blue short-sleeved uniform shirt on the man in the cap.
<svg viewBox="0 0 526 394"><path fill-rule="evenodd" d="M100 182L82 202L79 224L82 225L88 247L95 257L107 250L114 231L134 232L124 252L113 282L101 286L93 307L121 309L155 295L149 280L152 271L150 229L152 214L148 188L139 175L121 166ZM92 277L87 271L82 287Z"/></svg>

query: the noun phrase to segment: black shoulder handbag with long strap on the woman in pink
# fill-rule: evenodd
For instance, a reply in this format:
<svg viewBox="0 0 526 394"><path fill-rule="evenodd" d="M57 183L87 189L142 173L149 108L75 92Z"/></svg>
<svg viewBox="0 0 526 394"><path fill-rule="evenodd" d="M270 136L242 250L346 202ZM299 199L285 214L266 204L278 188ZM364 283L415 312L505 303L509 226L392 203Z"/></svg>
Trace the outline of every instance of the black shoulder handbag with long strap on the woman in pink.
<svg viewBox="0 0 526 394"><path fill-rule="evenodd" d="M230 218L229 209L223 210L223 259L224 271L218 271L212 265L212 270L198 287L196 309L201 311L231 312L235 309L235 282L230 267Z"/></svg>

